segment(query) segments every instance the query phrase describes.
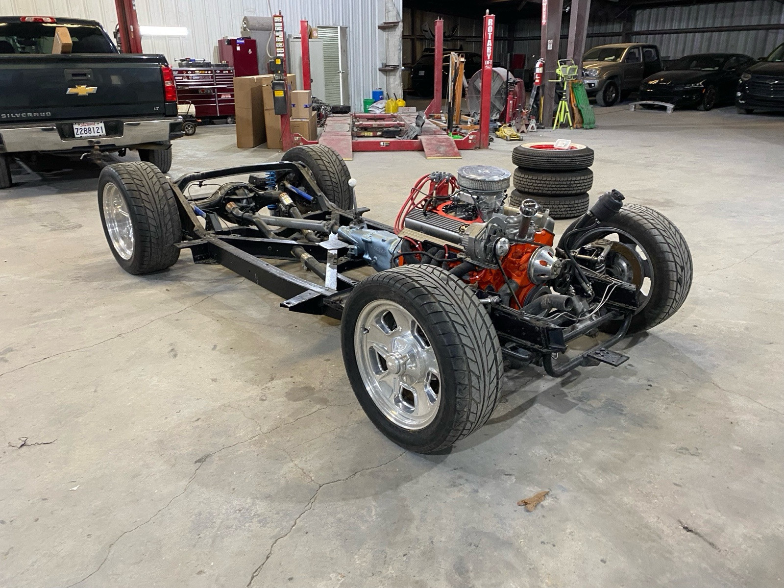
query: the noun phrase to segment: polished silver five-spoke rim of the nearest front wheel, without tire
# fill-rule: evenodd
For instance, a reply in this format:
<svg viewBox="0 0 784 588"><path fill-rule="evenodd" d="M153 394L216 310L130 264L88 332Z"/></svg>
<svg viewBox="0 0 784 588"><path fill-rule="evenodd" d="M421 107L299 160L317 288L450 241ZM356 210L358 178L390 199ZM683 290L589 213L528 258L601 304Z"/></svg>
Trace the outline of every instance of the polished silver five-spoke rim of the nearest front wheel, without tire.
<svg viewBox="0 0 784 588"><path fill-rule="evenodd" d="M357 320L354 350L362 381L387 419L423 429L441 404L441 376L433 347L408 310L390 300L369 303Z"/></svg>

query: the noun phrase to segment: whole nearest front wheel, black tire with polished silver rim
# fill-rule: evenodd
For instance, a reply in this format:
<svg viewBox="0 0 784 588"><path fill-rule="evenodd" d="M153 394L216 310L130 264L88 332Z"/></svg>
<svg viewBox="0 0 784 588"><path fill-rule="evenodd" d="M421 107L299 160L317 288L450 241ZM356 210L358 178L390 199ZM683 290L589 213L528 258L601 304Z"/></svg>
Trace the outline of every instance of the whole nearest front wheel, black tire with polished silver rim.
<svg viewBox="0 0 784 588"><path fill-rule="evenodd" d="M410 451L449 447L484 425L498 401L495 328L470 287L441 267L405 265L361 281L341 338L365 414Z"/></svg>

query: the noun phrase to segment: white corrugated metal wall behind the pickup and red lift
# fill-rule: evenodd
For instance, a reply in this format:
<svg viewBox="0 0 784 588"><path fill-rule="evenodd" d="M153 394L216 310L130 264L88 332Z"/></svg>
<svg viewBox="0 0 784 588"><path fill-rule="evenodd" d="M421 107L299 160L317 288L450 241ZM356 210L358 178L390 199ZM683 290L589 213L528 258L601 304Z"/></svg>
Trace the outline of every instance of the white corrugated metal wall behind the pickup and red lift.
<svg viewBox="0 0 784 588"><path fill-rule="evenodd" d="M216 59L216 42L235 37L243 16L283 13L289 32L299 31L299 20L311 26L348 27L348 60L351 105L361 110L362 98L385 84L378 67L385 60L383 0L136 0L140 25L186 27L187 37L145 37L147 53L163 53L169 62L179 57ZM402 14L403 2L397 0ZM2 13L72 16L99 20L114 31L117 14L113 0L2 0Z"/></svg>

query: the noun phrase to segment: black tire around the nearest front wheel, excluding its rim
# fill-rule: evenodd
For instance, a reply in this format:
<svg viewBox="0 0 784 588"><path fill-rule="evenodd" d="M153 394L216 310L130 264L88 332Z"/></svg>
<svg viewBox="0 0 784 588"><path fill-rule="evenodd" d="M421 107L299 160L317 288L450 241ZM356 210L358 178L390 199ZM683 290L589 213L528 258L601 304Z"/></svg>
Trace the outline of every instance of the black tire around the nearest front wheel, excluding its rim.
<svg viewBox="0 0 784 588"><path fill-rule="evenodd" d="M357 365L358 318L368 303L379 299L412 314L438 362L440 404L434 420L419 430L399 426L379 410ZM503 358L488 312L465 282L440 267L405 265L361 281L343 312L341 338L346 372L365 414L410 451L437 452L463 439L487 422L499 399Z"/></svg>

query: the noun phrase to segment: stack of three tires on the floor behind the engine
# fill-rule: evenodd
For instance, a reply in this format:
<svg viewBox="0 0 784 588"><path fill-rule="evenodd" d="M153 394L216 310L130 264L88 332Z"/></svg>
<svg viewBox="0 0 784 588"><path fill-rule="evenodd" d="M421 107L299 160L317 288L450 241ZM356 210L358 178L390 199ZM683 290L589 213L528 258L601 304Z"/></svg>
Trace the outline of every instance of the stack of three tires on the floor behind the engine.
<svg viewBox="0 0 784 588"><path fill-rule="evenodd" d="M573 219L588 210L588 191L593 187L593 149L572 143L557 149L554 141L522 143L514 147L514 190L510 204L519 206L532 198L554 219Z"/></svg>

